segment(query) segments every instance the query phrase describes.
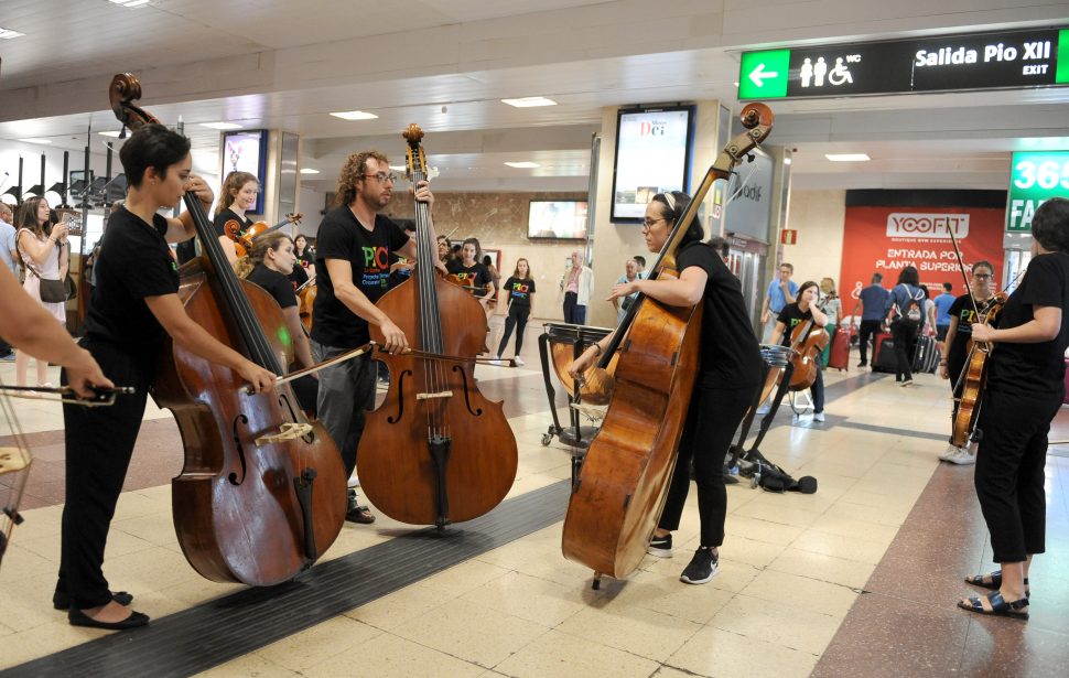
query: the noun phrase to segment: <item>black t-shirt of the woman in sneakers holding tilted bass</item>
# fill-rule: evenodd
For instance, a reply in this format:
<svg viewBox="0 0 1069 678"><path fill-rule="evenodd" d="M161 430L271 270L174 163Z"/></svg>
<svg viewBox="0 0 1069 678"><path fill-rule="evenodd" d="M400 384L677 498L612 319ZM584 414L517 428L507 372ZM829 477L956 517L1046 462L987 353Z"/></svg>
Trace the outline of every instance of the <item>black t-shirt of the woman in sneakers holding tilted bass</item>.
<svg viewBox="0 0 1069 678"><path fill-rule="evenodd" d="M749 325L743 290L724 260L704 243L689 243L676 255L680 275L692 266L705 271L702 315L701 388L741 388L760 381L762 357Z"/></svg>

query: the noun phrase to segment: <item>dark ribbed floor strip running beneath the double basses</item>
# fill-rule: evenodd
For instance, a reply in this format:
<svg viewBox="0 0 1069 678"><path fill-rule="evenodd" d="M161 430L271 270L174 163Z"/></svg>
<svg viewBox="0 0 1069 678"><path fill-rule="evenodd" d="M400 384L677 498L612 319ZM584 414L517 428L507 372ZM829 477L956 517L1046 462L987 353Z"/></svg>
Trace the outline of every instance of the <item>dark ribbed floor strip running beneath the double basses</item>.
<svg viewBox="0 0 1069 678"><path fill-rule="evenodd" d="M192 676L559 523L569 485L554 483L444 534L429 528L404 535L321 563L295 581L246 589L143 629L12 667L0 677Z"/></svg>

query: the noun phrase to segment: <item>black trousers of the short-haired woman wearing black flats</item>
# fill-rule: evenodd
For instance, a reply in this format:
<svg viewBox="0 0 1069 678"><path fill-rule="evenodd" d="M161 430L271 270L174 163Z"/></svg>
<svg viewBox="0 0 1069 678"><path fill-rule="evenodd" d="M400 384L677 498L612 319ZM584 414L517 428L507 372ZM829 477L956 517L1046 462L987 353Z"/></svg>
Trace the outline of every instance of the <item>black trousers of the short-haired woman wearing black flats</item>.
<svg viewBox="0 0 1069 678"><path fill-rule="evenodd" d="M83 346L116 385L137 389L133 395L119 396L110 407L63 406L66 503L56 591L69 594L74 607L88 610L111 601L102 570L104 549L141 430L150 377L117 346L87 341ZM67 384L66 370L61 383Z"/></svg>

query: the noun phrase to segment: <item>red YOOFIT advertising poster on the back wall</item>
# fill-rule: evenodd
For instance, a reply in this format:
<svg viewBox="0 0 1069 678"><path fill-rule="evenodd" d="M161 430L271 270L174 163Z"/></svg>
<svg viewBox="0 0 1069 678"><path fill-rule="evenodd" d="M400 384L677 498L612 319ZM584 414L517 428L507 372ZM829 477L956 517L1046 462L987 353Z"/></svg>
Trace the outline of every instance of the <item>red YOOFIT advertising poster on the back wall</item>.
<svg viewBox="0 0 1069 678"><path fill-rule="evenodd" d="M883 286L894 287L907 266L917 267L921 284L932 297L942 283L964 294L964 282L950 240L953 228L965 267L987 260L1002 280L1002 209L987 207L846 207L843 229L843 262L840 290L843 313L849 314L861 289L874 272L883 273Z"/></svg>

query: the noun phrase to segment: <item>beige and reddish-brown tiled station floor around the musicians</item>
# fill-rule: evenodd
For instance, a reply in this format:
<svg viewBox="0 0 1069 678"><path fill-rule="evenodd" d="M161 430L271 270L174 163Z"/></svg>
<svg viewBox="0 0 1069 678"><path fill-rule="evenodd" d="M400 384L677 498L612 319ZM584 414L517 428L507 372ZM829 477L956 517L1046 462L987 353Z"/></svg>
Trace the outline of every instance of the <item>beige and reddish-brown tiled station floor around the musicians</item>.
<svg viewBox="0 0 1069 678"><path fill-rule="evenodd" d="M528 333L527 367L477 372L484 394L505 398L519 444L510 496L571 470L566 448L540 441L550 416L539 331ZM0 365L6 381L12 372ZM1000 675L1056 675L1069 645L1058 615L1069 602L1069 459L1051 456L1048 466L1050 553L1034 575L1045 599L1035 618L970 618L953 607L968 592L960 575L990 551L972 471L937 471L946 384L921 376L904 390L859 373L825 379L839 394L829 421L781 412L762 444L796 476L816 476L819 491L731 486L721 573L709 585L678 581L697 546L691 496L676 557L647 558L626 582L593 591L591 572L562 558L557 524L204 675L941 676L985 674L991 657ZM63 486L58 406L25 401L19 413L37 459L25 525L0 568L0 669L101 635L68 626L50 605ZM182 557L168 485L182 465L181 442L168 412L150 406L145 419L105 570L137 594L139 610L161 617L239 586L201 579ZM381 515L374 526L346 525L325 559L410 529ZM905 568L915 575L903 577Z"/></svg>

